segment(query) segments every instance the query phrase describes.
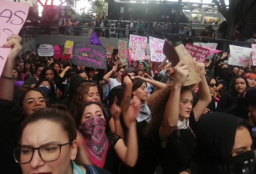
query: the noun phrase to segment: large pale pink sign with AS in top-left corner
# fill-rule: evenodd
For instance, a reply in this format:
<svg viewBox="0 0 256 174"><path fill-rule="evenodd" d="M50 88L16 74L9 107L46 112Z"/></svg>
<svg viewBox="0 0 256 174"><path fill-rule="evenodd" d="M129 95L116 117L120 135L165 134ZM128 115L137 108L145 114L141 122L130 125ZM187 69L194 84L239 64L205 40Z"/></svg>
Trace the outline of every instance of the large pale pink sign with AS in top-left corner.
<svg viewBox="0 0 256 174"><path fill-rule="evenodd" d="M28 16L29 5L25 3L0 1L0 76L11 48L4 48L11 34L18 34Z"/></svg>

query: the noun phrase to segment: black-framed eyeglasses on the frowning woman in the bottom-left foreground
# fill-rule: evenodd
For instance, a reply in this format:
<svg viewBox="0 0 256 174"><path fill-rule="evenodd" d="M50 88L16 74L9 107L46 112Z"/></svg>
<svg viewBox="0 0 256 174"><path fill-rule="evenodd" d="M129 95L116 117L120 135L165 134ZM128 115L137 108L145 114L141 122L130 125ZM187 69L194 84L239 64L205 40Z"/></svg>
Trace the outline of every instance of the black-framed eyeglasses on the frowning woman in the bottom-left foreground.
<svg viewBox="0 0 256 174"><path fill-rule="evenodd" d="M59 158L61 147L68 145L70 142L65 144L48 144L40 147L28 147L20 146L13 150L13 155L17 163L29 163L33 158L35 150L38 150L38 154L43 161L55 161Z"/></svg>

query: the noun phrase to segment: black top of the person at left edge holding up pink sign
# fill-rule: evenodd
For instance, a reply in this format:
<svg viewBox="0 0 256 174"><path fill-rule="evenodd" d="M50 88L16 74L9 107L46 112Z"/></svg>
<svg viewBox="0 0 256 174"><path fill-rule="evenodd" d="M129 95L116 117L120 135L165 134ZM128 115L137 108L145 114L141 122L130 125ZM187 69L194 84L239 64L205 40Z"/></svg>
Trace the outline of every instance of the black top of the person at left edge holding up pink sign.
<svg viewBox="0 0 256 174"><path fill-rule="evenodd" d="M18 145L20 125L24 119L21 107L13 101L0 99L0 174L21 174L13 150Z"/></svg>

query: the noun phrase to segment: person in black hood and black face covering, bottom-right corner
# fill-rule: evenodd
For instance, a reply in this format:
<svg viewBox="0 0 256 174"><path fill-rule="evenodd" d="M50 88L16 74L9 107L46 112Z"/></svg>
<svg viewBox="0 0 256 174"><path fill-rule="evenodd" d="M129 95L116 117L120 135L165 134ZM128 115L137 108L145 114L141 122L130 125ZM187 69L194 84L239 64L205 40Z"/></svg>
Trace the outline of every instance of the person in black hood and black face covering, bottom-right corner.
<svg viewBox="0 0 256 174"><path fill-rule="evenodd" d="M190 169L180 174L255 174L250 129L248 121L230 114L202 116Z"/></svg>

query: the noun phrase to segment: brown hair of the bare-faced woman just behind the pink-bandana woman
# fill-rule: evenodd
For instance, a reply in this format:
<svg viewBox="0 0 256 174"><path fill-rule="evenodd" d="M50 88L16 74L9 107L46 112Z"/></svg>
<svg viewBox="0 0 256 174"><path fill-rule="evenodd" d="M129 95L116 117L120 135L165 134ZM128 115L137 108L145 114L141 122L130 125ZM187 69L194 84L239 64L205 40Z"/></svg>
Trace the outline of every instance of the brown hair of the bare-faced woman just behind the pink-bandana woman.
<svg viewBox="0 0 256 174"><path fill-rule="evenodd" d="M91 82L82 83L76 89L76 92L73 96L73 100L71 103L71 111L70 111L72 116L74 116L74 118L76 118L78 111L85 103L85 99L87 98L90 87L97 87L97 85L95 83L91 83Z"/></svg>

